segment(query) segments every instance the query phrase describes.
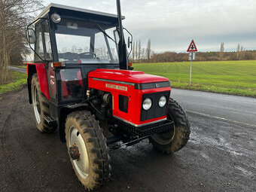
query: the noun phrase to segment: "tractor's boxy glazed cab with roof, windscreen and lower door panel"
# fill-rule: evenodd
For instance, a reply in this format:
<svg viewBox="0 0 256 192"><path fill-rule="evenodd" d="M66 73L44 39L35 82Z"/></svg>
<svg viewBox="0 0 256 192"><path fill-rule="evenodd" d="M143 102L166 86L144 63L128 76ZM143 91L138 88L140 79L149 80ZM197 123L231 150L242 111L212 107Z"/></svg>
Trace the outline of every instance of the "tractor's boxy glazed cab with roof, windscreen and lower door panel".
<svg viewBox="0 0 256 192"><path fill-rule="evenodd" d="M35 38L35 63L43 62L47 71L45 95L58 104L81 101L86 97L88 72L119 69L117 29L114 14L47 6L28 26L29 40Z"/></svg>

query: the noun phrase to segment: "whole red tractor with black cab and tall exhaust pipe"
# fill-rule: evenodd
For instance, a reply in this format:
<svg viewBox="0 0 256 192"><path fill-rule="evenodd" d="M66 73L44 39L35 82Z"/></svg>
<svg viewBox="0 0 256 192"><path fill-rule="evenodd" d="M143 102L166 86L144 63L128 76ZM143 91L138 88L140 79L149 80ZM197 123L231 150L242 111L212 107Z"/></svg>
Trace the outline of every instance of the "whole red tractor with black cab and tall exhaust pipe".
<svg viewBox="0 0 256 192"><path fill-rule="evenodd" d="M170 154L190 135L169 80L128 65L133 36L126 46L123 19L119 0L117 15L50 4L26 31L35 52L27 63L35 123L41 133L59 130L87 190L108 181L110 149L149 139Z"/></svg>

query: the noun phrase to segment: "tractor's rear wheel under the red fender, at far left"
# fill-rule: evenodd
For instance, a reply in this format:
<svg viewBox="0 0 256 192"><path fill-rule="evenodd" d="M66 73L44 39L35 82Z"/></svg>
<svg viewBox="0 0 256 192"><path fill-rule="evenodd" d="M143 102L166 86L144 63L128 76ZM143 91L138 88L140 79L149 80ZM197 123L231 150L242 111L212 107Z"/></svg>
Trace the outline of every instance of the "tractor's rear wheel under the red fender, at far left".
<svg viewBox="0 0 256 192"><path fill-rule="evenodd" d="M32 105L33 105L34 114L35 114L35 123L36 123L36 126L38 127L38 130L41 133L53 133L56 130L56 126L50 126L44 120L44 116L49 115L50 113L49 101L44 96L44 94L41 93L39 81L38 81L38 75L36 73L32 76L31 93L32 93Z"/></svg>

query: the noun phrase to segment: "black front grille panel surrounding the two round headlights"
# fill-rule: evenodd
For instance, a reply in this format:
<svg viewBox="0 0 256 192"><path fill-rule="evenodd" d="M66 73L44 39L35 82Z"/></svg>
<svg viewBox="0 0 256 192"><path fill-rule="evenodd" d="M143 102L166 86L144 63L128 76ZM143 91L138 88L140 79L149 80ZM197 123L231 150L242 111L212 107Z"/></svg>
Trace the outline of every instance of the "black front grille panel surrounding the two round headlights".
<svg viewBox="0 0 256 192"><path fill-rule="evenodd" d="M167 105L169 102L169 91L163 91L163 92L157 92L157 93L147 93L142 96L142 105L143 101L146 98L150 98L152 101L151 108L148 109L147 111L142 108L142 113L141 113L141 120L150 120L154 119L157 117L163 117L166 115L167 112ZM159 106L158 102L161 96L166 96L166 105L164 105L162 108Z"/></svg>

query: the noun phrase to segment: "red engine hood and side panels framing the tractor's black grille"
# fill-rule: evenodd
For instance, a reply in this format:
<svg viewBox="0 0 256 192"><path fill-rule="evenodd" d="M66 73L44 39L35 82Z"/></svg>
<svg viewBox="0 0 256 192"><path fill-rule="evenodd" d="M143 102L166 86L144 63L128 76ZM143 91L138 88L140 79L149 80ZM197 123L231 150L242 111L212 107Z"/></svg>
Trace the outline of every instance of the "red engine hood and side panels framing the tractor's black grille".
<svg viewBox="0 0 256 192"><path fill-rule="evenodd" d="M151 123L156 120L166 118L157 117L151 120L140 120L142 111L142 95L145 93L157 93L163 91L170 91L171 87L162 87L146 90L135 89L134 84L147 84L153 82L169 81L156 75L148 75L144 72L115 70L115 69L96 69L88 75L88 87L104 90L112 95L112 109L114 117L120 117L123 120L129 121L135 125L142 125L144 123ZM118 108L118 96L128 96L128 112L120 111ZM153 101L156 102L156 101ZM158 101L157 101L158 102Z"/></svg>

